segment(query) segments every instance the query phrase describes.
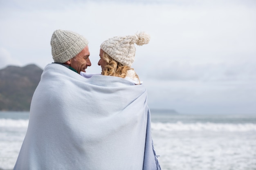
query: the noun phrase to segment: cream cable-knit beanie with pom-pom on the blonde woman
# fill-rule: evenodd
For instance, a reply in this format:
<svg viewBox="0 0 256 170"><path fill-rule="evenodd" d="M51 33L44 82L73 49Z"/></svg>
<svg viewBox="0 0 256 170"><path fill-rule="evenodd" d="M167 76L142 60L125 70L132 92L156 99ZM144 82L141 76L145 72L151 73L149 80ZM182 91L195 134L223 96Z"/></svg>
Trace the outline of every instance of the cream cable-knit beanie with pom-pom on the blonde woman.
<svg viewBox="0 0 256 170"><path fill-rule="evenodd" d="M131 66L135 58L136 43L139 46L148 44L150 36L144 32L124 37L113 37L101 44L101 49L117 62Z"/></svg>

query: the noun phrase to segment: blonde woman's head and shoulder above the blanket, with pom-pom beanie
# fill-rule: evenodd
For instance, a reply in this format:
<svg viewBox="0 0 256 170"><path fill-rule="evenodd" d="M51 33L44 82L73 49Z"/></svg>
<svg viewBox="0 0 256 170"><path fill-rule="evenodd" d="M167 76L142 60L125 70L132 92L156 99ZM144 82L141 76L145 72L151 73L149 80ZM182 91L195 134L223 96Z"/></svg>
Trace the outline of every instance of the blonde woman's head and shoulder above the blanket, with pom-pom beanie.
<svg viewBox="0 0 256 170"><path fill-rule="evenodd" d="M150 36L144 32L132 36L113 37L101 44L100 60L102 75L110 75L128 79L141 84L138 75L130 66L135 58L135 46L148 44Z"/></svg>

